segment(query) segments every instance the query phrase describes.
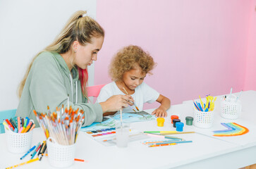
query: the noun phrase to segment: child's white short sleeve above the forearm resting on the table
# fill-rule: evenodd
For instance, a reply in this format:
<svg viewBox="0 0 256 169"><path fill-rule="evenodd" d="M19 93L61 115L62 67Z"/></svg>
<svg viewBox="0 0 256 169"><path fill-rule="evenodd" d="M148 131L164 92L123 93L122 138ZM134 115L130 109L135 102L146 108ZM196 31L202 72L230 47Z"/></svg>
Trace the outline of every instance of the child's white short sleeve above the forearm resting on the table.
<svg viewBox="0 0 256 169"><path fill-rule="evenodd" d="M147 85L145 82L142 83L142 92L143 92L143 103L152 104L159 98L159 92Z"/></svg>

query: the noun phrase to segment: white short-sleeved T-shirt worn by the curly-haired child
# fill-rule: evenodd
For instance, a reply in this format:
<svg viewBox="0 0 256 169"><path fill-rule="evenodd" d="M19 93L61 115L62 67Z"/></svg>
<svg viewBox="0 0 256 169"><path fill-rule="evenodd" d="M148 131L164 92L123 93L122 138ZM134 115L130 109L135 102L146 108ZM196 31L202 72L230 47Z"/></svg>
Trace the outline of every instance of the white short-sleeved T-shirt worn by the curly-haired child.
<svg viewBox="0 0 256 169"><path fill-rule="evenodd" d="M123 94L125 95L116 85L116 82L111 82L109 84L106 84L99 92L99 96L97 97L97 103L106 101L109 99L109 97L113 95ZM159 92L157 92L155 89L152 89L152 87L145 84L145 82L142 82L138 87L135 88L134 94L131 94L130 96L133 97L135 101L135 105L138 106L140 111L143 110L143 104L144 103L153 103L156 101L159 97ZM135 106L131 106L135 111ZM123 113L127 112L134 112L129 106L126 108L123 108Z"/></svg>

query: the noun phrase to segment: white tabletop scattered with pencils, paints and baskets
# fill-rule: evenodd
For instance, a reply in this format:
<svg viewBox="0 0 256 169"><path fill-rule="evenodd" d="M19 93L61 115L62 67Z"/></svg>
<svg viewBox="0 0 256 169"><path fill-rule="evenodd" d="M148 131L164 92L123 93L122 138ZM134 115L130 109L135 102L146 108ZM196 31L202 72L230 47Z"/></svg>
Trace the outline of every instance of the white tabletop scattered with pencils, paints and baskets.
<svg viewBox="0 0 256 169"><path fill-rule="evenodd" d="M220 115L220 98L215 102L214 125L209 129L200 129L195 126L184 126L184 131L195 131L191 134L172 135L192 143L177 144L174 146L160 146L149 148L142 145L142 140L129 142L128 147L104 146L94 139L80 132L75 147L75 158L85 159L85 163L75 161L70 168L242 168L256 163L256 92L243 92L240 96L242 112L237 120L227 120ZM153 109L147 110L151 113ZM157 127L157 120L132 123L130 127L140 131L149 130L176 130L171 125L171 115L179 115L185 123L186 116L193 116L193 104L184 101L183 104L171 106L165 118L164 127ZM212 131L224 130L220 123L235 122L248 127L248 134L236 137L213 137ZM255 135L255 137L254 137ZM32 145L45 140L41 128L33 132ZM148 140L148 139L145 139ZM150 138L152 140L152 138ZM23 154L12 154L6 147L6 134L0 134L0 168L6 168L28 161L26 157L20 161ZM53 168L44 156L42 161L22 165L19 168Z"/></svg>

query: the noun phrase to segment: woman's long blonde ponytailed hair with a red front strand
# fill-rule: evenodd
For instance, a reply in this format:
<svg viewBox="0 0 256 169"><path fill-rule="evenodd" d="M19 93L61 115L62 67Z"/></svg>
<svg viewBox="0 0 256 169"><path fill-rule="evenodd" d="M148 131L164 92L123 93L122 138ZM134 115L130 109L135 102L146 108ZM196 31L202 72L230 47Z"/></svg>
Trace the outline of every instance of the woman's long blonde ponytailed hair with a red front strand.
<svg viewBox="0 0 256 169"><path fill-rule="evenodd" d="M64 54L71 49L71 45L75 40L77 40L81 45L91 43L91 37L104 37L103 28L97 23L94 19L86 15L86 11L77 11L66 23L65 27L61 33L56 37L54 42L47 46L43 51L57 52L59 54ZM39 52L41 54L43 51ZM18 97L20 98L25 82L27 80L28 74L32 67L32 63L35 61L35 58L39 55L37 54L31 61L28 66L23 80L20 82L18 87ZM73 59L70 58L70 63L73 65ZM73 65L74 66L74 65ZM87 96L86 85L88 80L87 70L78 68L79 79L81 82L82 92L84 96Z"/></svg>

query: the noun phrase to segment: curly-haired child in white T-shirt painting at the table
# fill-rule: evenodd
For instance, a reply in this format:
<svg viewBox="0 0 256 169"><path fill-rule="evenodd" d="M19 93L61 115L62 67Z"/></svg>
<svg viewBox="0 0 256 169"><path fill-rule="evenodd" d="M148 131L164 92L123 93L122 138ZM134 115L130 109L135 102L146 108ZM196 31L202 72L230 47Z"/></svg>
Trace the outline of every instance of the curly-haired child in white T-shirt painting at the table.
<svg viewBox="0 0 256 169"><path fill-rule="evenodd" d="M124 47L114 56L110 65L109 74L114 82L102 87L97 102L106 101L113 95L128 94L135 100L135 105L123 108L123 113L136 110L135 106L142 111L144 103L157 101L161 105L152 112L152 115L166 117L166 111L170 108L171 101L143 82L154 65L152 56L145 53L139 46ZM103 115L114 113L116 112Z"/></svg>

